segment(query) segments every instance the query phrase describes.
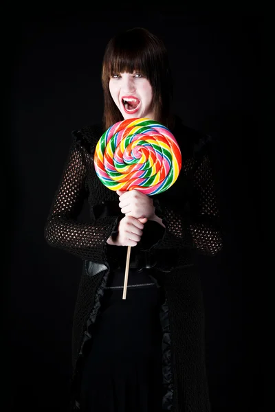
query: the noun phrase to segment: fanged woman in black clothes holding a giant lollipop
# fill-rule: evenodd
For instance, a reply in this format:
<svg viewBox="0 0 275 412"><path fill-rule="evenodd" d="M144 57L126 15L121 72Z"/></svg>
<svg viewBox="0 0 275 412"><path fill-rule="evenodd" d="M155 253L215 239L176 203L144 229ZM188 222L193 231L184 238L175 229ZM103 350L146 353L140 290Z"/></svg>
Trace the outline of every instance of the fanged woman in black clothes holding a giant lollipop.
<svg viewBox="0 0 275 412"><path fill-rule="evenodd" d="M170 113L166 48L142 28L118 34L102 64L104 117L73 132L45 226L47 242L83 260L73 331L74 409L210 411L196 253L221 249L207 136ZM113 192L94 170L109 126L148 117L170 128L182 168L166 192ZM91 220L80 223L85 199ZM122 300L126 247L131 264Z"/></svg>

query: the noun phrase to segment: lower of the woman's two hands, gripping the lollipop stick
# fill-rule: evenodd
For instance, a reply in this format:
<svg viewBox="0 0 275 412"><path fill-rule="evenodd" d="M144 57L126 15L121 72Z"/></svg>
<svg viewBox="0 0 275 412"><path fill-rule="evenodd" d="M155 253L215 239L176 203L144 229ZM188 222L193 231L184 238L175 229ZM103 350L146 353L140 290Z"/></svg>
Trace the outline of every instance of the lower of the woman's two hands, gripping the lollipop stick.
<svg viewBox="0 0 275 412"><path fill-rule="evenodd" d="M107 243L113 246L137 246L142 238L142 229L147 218L136 219L132 216L124 216L118 225L118 236L107 239Z"/></svg>

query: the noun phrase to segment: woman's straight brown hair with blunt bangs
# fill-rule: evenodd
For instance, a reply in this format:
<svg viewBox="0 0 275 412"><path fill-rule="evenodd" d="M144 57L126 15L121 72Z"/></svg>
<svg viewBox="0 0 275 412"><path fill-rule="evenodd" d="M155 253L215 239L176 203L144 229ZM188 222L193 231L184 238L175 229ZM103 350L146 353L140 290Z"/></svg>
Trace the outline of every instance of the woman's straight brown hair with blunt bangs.
<svg viewBox="0 0 275 412"><path fill-rule="evenodd" d="M170 114L173 86L166 47L162 40L148 30L135 27L111 38L105 49L102 62L105 130L123 120L122 114L111 98L109 80L113 73L134 71L144 75L151 84L154 120L168 128L173 126L173 117Z"/></svg>

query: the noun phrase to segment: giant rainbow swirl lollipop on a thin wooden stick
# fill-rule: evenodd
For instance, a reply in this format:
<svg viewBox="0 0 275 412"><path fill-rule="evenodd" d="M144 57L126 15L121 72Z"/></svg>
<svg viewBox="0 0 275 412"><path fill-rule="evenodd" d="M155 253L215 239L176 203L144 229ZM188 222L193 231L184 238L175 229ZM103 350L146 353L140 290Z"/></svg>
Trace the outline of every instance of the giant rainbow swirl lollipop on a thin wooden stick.
<svg viewBox="0 0 275 412"><path fill-rule="evenodd" d="M146 117L113 124L100 137L94 154L100 181L110 190L140 190L152 196L179 176L181 152L173 134ZM123 299L126 298L131 247L128 247Z"/></svg>

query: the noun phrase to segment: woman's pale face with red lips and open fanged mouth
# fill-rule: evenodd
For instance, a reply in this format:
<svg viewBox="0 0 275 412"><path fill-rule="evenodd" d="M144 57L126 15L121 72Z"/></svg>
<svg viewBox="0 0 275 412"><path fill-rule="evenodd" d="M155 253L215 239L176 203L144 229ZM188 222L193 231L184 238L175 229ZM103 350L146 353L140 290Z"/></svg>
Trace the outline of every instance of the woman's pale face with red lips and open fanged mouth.
<svg viewBox="0 0 275 412"><path fill-rule="evenodd" d="M153 119L153 91L150 82L139 73L115 73L109 90L123 118L148 117Z"/></svg>

